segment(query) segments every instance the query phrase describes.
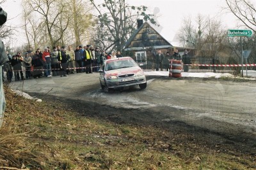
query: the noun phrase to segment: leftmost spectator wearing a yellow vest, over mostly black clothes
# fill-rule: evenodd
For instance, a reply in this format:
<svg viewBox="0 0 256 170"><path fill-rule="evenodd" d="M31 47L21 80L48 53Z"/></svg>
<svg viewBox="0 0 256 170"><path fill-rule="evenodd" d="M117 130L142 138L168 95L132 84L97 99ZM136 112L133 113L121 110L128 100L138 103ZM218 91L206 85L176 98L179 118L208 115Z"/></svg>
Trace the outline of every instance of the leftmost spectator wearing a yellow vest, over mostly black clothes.
<svg viewBox="0 0 256 170"><path fill-rule="evenodd" d="M67 74L66 69L67 69L68 59L69 59L69 55L66 52L66 47L61 46L61 51L58 53L58 61L60 63L60 68L61 68L61 71L60 71L60 76L61 77L67 76L66 75Z"/></svg>

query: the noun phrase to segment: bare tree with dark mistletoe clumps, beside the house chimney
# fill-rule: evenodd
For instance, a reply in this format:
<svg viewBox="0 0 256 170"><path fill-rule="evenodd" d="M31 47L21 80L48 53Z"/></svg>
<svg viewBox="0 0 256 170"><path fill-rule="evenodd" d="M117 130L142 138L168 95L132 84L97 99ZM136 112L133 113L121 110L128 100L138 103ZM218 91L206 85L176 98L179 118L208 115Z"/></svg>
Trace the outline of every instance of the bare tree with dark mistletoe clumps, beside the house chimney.
<svg viewBox="0 0 256 170"><path fill-rule="evenodd" d="M129 6L125 0L104 0L103 3L96 3L90 0L98 14L97 30L104 39L101 43L108 48L122 50L125 42L136 29L136 20L139 16L144 20L156 24L152 18L154 15L147 14L147 6ZM102 41L104 40L104 41ZM108 45L106 45L108 44Z"/></svg>

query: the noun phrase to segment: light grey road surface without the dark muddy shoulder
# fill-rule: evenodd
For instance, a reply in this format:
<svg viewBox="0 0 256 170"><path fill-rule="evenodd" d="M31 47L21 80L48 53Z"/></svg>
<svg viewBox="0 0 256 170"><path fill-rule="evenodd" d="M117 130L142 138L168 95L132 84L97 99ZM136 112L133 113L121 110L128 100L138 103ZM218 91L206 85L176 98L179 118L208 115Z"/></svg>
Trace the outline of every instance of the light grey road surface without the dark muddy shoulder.
<svg viewBox="0 0 256 170"><path fill-rule="evenodd" d="M98 73L37 78L12 82L9 87L28 94L75 99L111 106L116 110L135 109L143 113L129 115L129 121L154 124L182 122L215 133L256 137L255 81L174 79L166 76L148 76L147 80L145 90L132 87L111 93L100 89Z"/></svg>

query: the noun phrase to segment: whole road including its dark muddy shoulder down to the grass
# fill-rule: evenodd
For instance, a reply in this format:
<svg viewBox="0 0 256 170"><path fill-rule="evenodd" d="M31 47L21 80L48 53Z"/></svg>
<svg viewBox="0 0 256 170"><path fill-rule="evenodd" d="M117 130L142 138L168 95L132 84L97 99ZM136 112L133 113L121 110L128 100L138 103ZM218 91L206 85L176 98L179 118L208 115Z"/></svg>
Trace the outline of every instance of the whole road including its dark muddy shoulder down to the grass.
<svg viewBox="0 0 256 170"><path fill-rule="evenodd" d="M154 125L193 134L256 155L256 83L147 76L148 87L105 93L99 75L72 74L14 82L13 90L54 99L86 116L116 123Z"/></svg>

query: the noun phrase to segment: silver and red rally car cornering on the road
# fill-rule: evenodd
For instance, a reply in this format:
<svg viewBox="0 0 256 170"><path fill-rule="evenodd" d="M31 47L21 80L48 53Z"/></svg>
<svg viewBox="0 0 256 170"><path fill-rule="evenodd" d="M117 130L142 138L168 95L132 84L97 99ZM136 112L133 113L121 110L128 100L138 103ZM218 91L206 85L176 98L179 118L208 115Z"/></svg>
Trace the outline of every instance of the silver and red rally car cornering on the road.
<svg viewBox="0 0 256 170"><path fill-rule="evenodd" d="M140 89L147 87L145 74L131 57L105 60L99 73L100 86L105 92L133 85L139 85Z"/></svg>

